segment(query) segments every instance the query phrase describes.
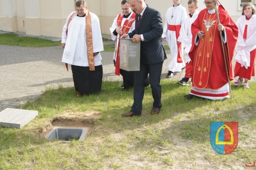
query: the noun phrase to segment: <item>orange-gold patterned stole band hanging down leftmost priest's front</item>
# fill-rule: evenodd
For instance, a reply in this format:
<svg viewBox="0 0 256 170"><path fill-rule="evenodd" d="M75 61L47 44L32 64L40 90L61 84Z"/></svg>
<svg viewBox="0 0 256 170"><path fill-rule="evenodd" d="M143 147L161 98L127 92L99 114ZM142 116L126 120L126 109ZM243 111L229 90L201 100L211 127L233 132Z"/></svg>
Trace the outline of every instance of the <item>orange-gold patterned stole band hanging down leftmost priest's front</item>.
<svg viewBox="0 0 256 170"><path fill-rule="evenodd" d="M94 56L93 56L93 34L92 34L91 13L89 10L87 11L88 11L88 14L85 16L87 56L88 56L89 70L95 71Z"/></svg>

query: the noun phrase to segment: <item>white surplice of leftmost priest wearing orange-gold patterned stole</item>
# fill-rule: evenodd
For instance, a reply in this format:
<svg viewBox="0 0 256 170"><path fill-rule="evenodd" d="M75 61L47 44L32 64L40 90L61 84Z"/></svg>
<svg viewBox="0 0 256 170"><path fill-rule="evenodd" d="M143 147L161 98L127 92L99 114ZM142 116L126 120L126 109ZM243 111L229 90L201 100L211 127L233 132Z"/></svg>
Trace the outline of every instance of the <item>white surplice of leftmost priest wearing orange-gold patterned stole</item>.
<svg viewBox="0 0 256 170"><path fill-rule="evenodd" d="M62 31L61 43L66 43L62 56L62 62L75 66L89 66L85 17L75 16L69 23L68 36L66 35L67 23L72 13L69 14ZM90 14L93 37L93 52L95 53L103 51L103 42L100 31L99 18L94 13L90 12ZM100 53L94 56L94 65L101 65Z"/></svg>

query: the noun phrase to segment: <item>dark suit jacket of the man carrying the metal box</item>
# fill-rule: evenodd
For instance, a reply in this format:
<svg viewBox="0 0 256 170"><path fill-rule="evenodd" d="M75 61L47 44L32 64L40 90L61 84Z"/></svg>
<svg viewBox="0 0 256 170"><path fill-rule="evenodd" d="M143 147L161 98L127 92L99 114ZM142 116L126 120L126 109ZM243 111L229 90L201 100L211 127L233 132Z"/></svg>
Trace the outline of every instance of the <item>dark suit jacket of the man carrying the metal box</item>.
<svg viewBox="0 0 256 170"><path fill-rule="evenodd" d="M137 25L139 15L136 14L135 25ZM132 38L135 34L143 34L144 40L140 45L140 60L144 64L160 63L166 59L163 48L162 34L163 21L160 13L150 7L146 7L139 28L135 28L133 32L128 33Z"/></svg>

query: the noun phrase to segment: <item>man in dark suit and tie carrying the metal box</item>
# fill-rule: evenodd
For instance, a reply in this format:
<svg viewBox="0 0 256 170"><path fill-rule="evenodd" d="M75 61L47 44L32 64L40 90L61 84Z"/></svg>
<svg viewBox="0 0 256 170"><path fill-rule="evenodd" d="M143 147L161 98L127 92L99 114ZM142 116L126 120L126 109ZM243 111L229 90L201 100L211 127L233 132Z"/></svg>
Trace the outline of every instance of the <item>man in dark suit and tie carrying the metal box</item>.
<svg viewBox="0 0 256 170"><path fill-rule="evenodd" d="M140 44L140 71L135 72L133 106L131 111L122 116L140 116L144 96L144 80L149 73L149 81L154 98L151 114L158 114L161 104L160 78L163 61L166 54L163 48L163 21L160 13L148 7L144 0L129 0L130 7L136 12L135 30L124 34L121 38L133 38L133 42Z"/></svg>

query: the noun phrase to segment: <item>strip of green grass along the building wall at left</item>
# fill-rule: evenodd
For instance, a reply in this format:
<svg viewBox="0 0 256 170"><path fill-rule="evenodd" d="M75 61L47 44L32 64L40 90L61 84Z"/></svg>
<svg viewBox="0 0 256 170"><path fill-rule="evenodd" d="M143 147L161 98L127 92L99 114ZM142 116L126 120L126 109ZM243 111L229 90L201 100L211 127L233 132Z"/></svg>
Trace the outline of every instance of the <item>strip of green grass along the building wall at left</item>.
<svg viewBox="0 0 256 170"><path fill-rule="evenodd" d="M35 37L22 37L18 34L0 34L0 45L16 45L22 47L51 47L61 45L60 41L51 41Z"/></svg>

